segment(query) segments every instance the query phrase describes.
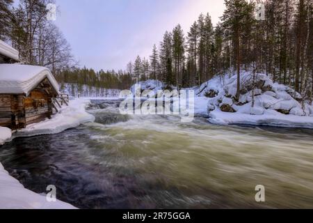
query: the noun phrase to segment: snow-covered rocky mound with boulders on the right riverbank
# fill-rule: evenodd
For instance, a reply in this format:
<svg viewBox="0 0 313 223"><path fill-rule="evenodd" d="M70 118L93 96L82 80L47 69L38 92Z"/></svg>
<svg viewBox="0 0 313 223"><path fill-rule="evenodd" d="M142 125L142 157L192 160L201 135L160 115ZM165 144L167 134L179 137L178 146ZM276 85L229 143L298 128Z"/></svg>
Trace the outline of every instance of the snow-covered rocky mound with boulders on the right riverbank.
<svg viewBox="0 0 313 223"><path fill-rule="evenodd" d="M289 86L273 83L268 76L257 74L253 88L252 74L243 72L241 95L236 102L236 76L224 81L222 84L222 79L215 77L204 83L205 91L201 94L210 97L210 123L313 128L313 106L302 103L301 95Z"/></svg>

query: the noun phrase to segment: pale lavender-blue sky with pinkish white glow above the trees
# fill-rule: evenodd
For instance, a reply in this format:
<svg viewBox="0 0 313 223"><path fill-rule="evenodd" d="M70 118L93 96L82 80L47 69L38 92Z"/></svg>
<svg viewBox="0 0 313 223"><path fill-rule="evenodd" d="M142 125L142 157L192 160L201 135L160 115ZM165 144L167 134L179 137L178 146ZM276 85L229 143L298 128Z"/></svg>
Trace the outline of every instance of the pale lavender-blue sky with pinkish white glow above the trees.
<svg viewBox="0 0 313 223"><path fill-rule="evenodd" d="M185 33L200 13L213 24L224 0L56 0L56 24L80 66L125 70L137 55L150 56L166 30L181 24Z"/></svg>

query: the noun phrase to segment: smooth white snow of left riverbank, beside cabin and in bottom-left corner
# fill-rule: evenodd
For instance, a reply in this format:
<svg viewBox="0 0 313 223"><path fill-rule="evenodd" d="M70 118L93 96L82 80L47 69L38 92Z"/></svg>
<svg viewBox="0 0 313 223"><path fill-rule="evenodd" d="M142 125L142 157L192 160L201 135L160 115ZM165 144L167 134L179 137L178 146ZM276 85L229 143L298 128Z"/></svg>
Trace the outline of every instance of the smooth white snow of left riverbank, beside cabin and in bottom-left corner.
<svg viewBox="0 0 313 223"><path fill-rule="evenodd" d="M68 107L63 107L61 112L55 114L53 118L29 125L27 128L13 134L13 138L38 134L56 134L68 128L77 127L81 123L92 122L95 117L85 110L86 104L89 102L90 100L87 99L72 100ZM11 131L8 128L0 127L0 136L0 144L12 139ZM0 162L0 208L65 209L74 208L74 206L62 201L48 202L45 196L27 190L3 169Z"/></svg>

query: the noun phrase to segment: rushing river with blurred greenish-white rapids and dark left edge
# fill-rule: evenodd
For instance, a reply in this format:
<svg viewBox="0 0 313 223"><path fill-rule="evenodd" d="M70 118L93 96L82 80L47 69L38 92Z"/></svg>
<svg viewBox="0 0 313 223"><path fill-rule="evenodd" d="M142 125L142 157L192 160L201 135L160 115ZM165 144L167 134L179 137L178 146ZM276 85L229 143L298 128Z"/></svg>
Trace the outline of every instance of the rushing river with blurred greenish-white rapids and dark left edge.
<svg viewBox="0 0 313 223"><path fill-rule="evenodd" d="M95 123L14 139L0 161L26 188L56 185L78 208L313 208L312 130L124 116L118 104L94 101Z"/></svg>

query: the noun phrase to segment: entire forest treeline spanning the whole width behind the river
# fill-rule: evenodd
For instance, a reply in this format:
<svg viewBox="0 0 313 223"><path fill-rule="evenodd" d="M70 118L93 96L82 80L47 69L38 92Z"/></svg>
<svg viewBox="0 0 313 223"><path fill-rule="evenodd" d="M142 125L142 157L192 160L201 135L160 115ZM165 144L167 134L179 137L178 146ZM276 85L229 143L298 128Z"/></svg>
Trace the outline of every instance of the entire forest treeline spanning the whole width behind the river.
<svg viewBox="0 0 313 223"><path fill-rule="evenodd" d="M178 24L166 31L150 58L137 56L125 71L75 68L70 45L46 19L51 0L0 0L0 38L19 50L24 63L47 66L59 82L127 89L134 82L159 79L179 88L200 85L216 74L264 72L312 101L313 0L225 0L220 22L200 15L185 34ZM256 16L256 12L258 13ZM264 14L264 15L263 15Z"/></svg>

